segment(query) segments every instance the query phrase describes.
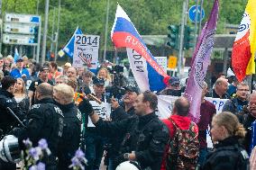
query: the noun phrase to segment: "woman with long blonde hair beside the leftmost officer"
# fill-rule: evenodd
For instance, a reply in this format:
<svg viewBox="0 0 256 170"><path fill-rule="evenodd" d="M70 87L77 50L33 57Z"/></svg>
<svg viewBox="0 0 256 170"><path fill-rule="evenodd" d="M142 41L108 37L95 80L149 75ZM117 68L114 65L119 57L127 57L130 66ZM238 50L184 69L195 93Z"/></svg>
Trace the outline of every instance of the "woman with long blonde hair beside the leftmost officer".
<svg viewBox="0 0 256 170"><path fill-rule="evenodd" d="M20 106L23 112L29 112L30 100L26 92L26 85L23 78L17 78L17 83L15 85L14 99L16 103Z"/></svg>

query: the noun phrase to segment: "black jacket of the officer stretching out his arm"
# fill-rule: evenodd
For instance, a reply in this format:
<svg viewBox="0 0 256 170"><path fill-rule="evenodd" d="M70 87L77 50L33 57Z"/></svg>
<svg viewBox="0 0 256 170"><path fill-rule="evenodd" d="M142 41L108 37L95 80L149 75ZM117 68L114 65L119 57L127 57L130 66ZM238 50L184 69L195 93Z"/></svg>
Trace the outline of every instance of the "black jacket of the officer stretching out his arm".
<svg viewBox="0 0 256 170"><path fill-rule="evenodd" d="M125 135L119 151L120 163L124 161L123 153L135 151L142 169L160 169L164 148L169 140L169 130L154 112L142 117L134 115L119 122L100 119L96 122L96 130L110 138Z"/></svg>

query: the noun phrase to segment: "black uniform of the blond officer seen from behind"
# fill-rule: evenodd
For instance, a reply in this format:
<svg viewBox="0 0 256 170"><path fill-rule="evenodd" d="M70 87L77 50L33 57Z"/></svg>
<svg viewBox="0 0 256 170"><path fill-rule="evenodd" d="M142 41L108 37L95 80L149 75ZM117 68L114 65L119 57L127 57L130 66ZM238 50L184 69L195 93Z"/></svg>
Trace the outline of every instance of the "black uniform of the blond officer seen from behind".
<svg viewBox="0 0 256 170"><path fill-rule="evenodd" d="M58 169L69 169L71 158L74 157L81 141L81 112L75 103L59 104L64 114L64 129L59 142L59 165Z"/></svg>

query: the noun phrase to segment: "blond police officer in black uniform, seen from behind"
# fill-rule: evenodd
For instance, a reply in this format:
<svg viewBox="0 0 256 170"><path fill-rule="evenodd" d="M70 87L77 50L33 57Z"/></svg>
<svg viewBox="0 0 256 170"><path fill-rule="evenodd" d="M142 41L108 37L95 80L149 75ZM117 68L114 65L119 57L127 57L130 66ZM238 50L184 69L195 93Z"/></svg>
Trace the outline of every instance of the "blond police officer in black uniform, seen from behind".
<svg viewBox="0 0 256 170"><path fill-rule="evenodd" d="M74 103L74 90L69 85L59 84L53 87L53 98L64 114L63 135L59 142L58 169L66 170L71 165L81 141L81 112Z"/></svg>

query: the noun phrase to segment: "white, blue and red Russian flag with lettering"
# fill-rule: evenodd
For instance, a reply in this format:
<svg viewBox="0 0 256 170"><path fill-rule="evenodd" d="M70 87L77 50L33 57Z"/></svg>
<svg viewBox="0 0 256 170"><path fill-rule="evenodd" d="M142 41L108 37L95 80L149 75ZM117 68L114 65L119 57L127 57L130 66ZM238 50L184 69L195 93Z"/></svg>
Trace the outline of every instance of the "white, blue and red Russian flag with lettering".
<svg viewBox="0 0 256 170"><path fill-rule="evenodd" d="M141 91L160 91L166 87L169 76L146 47L128 15L117 4L111 38L116 48L126 48L133 76Z"/></svg>

